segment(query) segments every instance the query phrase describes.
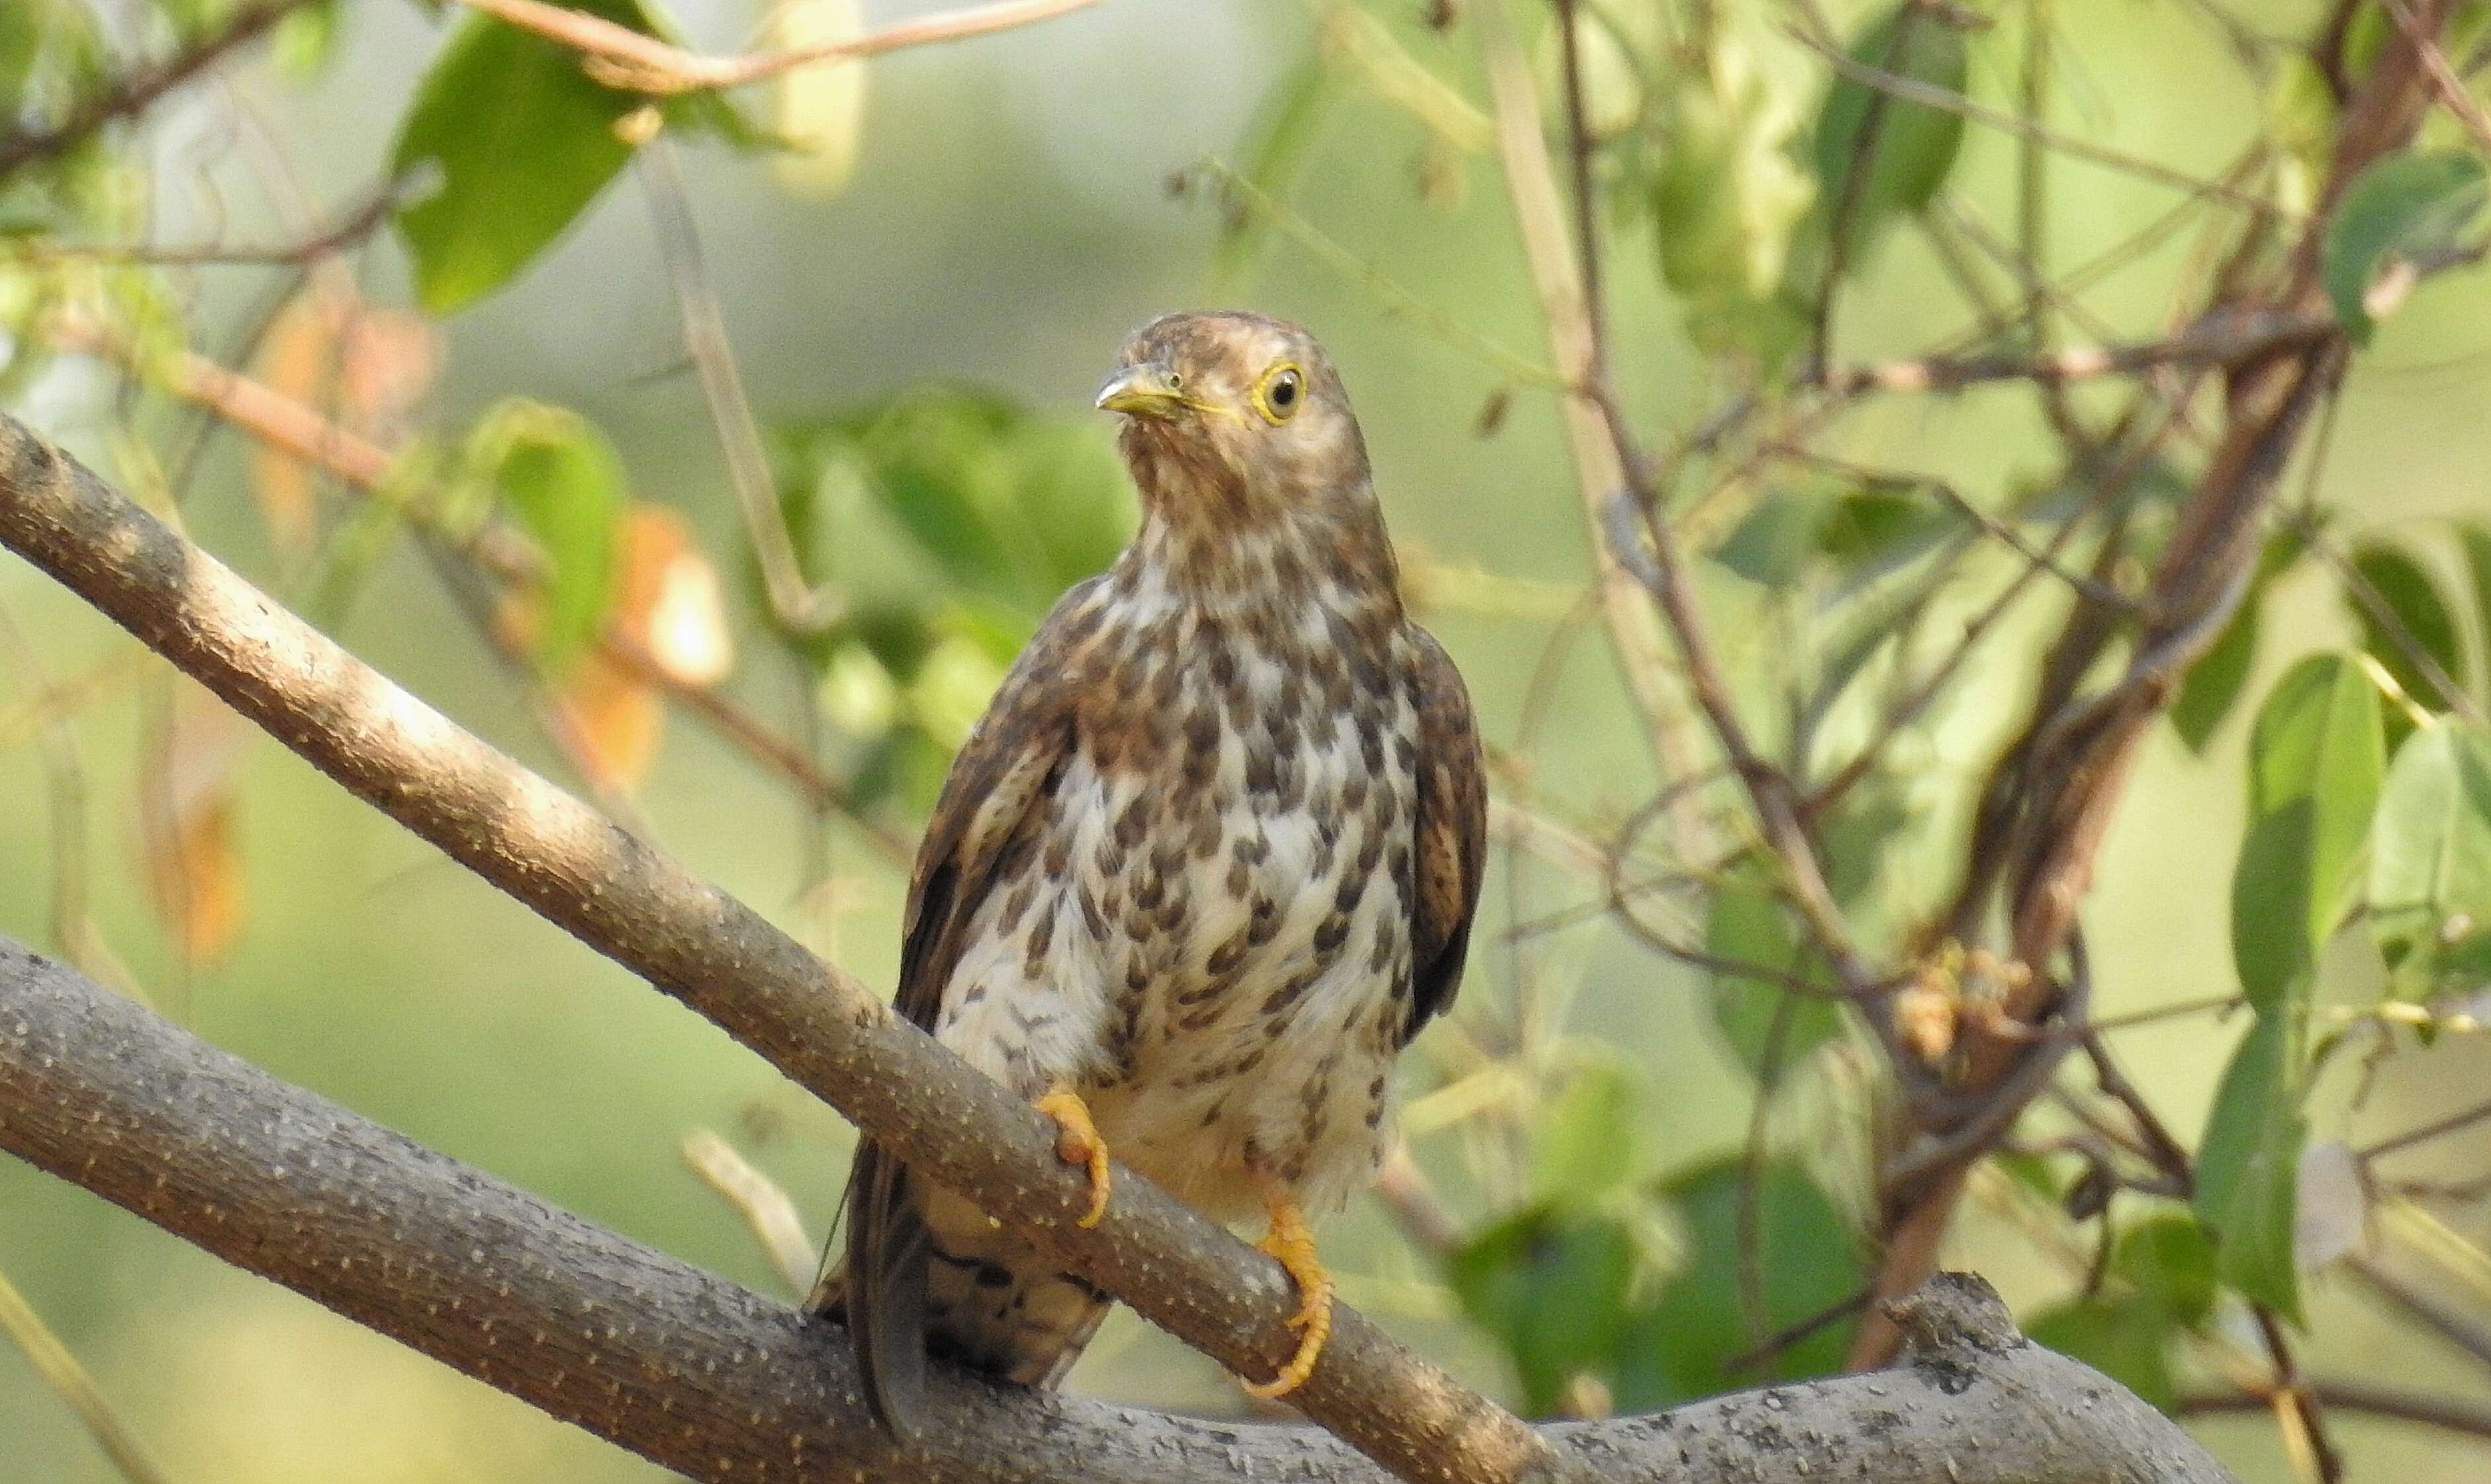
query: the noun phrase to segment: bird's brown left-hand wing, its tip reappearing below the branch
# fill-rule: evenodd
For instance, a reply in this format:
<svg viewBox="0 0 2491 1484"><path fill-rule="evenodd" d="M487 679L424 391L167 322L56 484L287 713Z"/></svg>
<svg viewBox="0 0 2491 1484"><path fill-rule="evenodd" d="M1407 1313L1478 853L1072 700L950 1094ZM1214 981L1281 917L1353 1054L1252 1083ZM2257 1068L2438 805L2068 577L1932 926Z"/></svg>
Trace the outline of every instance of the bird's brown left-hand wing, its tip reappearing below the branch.
<svg viewBox="0 0 2491 1484"><path fill-rule="evenodd" d="M909 876L899 993L892 1001L919 1031L934 1031L962 939L1004 847L1054 789L1071 754L1069 660L1094 588L1096 578L1069 590L1039 625L952 759L934 802ZM929 1240L909 1200L907 1168L872 1138L857 1140L842 1210L847 1257L815 1290L815 1307L844 1315L874 1417L894 1434L914 1437L924 1414Z"/></svg>

